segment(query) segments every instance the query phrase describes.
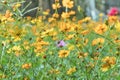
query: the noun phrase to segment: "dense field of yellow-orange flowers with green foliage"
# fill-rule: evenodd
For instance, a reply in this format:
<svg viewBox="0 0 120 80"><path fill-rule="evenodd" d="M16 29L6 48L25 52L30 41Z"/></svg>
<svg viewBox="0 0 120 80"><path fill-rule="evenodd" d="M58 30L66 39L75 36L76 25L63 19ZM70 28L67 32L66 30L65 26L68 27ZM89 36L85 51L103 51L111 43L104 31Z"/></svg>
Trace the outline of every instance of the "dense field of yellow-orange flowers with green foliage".
<svg viewBox="0 0 120 80"><path fill-rule="evenodd" d="M0 80L120 79L120 17L78 19L68 3L49 17L21 17L18 3L0 14Z"/></svg>

